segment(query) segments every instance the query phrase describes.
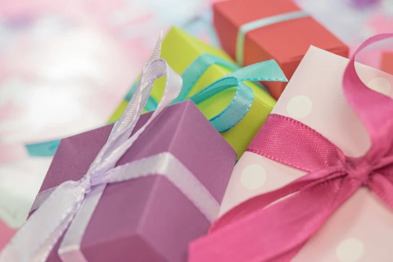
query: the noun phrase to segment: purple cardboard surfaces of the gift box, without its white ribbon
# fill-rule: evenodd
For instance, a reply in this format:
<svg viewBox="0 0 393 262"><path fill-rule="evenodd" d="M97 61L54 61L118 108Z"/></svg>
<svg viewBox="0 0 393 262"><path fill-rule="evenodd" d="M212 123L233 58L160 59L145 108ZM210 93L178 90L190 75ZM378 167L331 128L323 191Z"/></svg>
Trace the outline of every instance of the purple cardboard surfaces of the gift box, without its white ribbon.
<svg viewBox="0 0 393 262"><path fill-rule="evenodd" d="M140 117L133 134L151 114ZM63 139L40 192L81 179L112 126ZM236 153L190 100L165 108L116 166L162 152L180 160L221 203ZM152 175L106 186L80 249L89 262L183 262L188 243L205 234L209 226L207 218L166 177ZM61 262L57 250L62 238L48 262Z"/></svg>

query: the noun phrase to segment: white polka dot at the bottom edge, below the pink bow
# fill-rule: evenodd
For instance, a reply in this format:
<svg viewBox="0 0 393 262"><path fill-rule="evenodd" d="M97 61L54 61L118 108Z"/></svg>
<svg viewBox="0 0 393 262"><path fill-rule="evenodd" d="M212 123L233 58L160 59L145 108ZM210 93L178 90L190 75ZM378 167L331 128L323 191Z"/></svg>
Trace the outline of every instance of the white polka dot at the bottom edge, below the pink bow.
<svg viewBox="0 0 393 262"><path fill-rule="evenodd" d="M364 244L357 238L347 238L336 248L336 255L340 262L356 262L364 254Z"/></svg>

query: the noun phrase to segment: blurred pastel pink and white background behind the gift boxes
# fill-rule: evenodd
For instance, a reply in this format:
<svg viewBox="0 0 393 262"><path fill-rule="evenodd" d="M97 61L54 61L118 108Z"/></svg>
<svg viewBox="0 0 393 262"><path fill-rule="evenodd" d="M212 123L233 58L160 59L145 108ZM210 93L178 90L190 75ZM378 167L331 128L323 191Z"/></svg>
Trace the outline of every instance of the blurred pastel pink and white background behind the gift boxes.
<svg viewBox="0 0 393 262"><path fill-rule="evenodd" d="M393 29L393 0L294 1L352 50ZM26 220L51 163L24 145L103 125L160 30L176 25L218 45L213 2L0 0L0 248ZM362 59L379 68L381 52Z"/></svg>

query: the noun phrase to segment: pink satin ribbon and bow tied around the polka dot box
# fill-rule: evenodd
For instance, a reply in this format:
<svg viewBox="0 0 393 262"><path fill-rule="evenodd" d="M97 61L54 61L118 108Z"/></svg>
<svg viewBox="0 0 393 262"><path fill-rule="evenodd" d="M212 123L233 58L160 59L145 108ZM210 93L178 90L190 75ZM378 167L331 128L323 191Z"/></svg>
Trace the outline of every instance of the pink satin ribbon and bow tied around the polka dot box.
<svg viewBox="0 0 393 262"><path fill-rule="evenodd" d="M247 151L309 173L228 211L208 235L191 243L190 262L290 261L360 187L393 208L393 100L365 86L354 64L358 52L392 36L366 40L343 76L344 95L371 139L366 154L347 157L309 126L269 115Z"/></svg>

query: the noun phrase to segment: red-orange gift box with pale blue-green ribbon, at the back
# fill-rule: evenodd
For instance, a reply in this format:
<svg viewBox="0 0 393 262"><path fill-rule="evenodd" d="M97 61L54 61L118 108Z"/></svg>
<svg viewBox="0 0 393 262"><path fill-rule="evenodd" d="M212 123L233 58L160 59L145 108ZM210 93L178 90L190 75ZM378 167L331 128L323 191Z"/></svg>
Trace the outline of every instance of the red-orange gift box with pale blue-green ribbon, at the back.
<svg viewBox="0 0 393 262"><path fill-rule="evenodd" d="M290 0L214 5L221 47L241 66L274 59L290 79L310 45L347 57L348 47ZM263 82L276 99L286 82Z"/></svg>

